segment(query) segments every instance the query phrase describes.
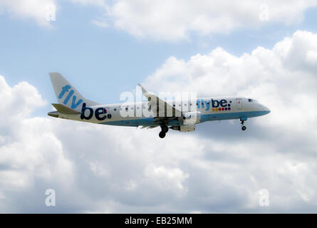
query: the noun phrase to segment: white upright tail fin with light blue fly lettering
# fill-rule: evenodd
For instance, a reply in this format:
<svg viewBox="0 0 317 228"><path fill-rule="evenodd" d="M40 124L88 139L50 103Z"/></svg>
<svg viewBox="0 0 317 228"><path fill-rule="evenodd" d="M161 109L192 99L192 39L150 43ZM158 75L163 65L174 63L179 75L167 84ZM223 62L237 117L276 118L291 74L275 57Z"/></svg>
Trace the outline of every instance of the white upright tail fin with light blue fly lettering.
<svg viewBox="0 0 317 228"><path fill-rule="evenodd" d="M66 105L71 109L76 109L82 103L86 103L87 106L99 105L91 100L87 100L81 95L76 88L71 86L61 73L49 73L53 88L55 90L58 103Z"/></svg>

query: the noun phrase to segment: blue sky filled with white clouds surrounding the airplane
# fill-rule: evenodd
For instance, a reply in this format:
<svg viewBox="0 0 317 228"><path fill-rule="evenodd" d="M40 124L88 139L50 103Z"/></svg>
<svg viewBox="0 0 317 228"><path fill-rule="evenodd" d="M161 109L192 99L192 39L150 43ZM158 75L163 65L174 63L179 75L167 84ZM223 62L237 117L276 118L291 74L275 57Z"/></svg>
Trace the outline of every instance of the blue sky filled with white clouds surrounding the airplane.
<svg viewBox="0 0 317 228"><path fill-rule="evenodd" d="M316 213L316 15L304 0L0 0L0 212ZM98 103L142 83L271 113L161 139L48 117L49 72Z"/></svg>

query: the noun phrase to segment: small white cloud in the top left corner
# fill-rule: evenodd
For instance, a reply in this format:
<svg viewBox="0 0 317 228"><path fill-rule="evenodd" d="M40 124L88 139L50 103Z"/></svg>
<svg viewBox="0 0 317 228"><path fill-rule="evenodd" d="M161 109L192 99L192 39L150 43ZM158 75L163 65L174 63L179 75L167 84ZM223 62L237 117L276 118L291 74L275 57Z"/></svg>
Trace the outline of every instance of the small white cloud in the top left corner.
<svg viewBox="0 0 317 228"><path fill-rule="evenodd" d="M4 11L18 18L31 18L41 26L50 26L46 18L52 6L56 9L55 0L0 0L0 13Z"/></svg>

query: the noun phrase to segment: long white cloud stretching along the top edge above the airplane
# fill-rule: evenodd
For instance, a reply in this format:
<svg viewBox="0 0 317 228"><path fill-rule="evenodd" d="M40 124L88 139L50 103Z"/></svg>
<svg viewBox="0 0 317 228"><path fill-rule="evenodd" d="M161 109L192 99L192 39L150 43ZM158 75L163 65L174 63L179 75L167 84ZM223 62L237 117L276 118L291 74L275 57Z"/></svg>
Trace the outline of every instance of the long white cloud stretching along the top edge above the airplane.
<svg viewBox="0 0 317 228"><path fill-rule="evenodd" d="M267 23L298 24L311 6L316 1L118 0L108 5L106 20L137 38L175 41L192 32L205 36Z"/></svg>

